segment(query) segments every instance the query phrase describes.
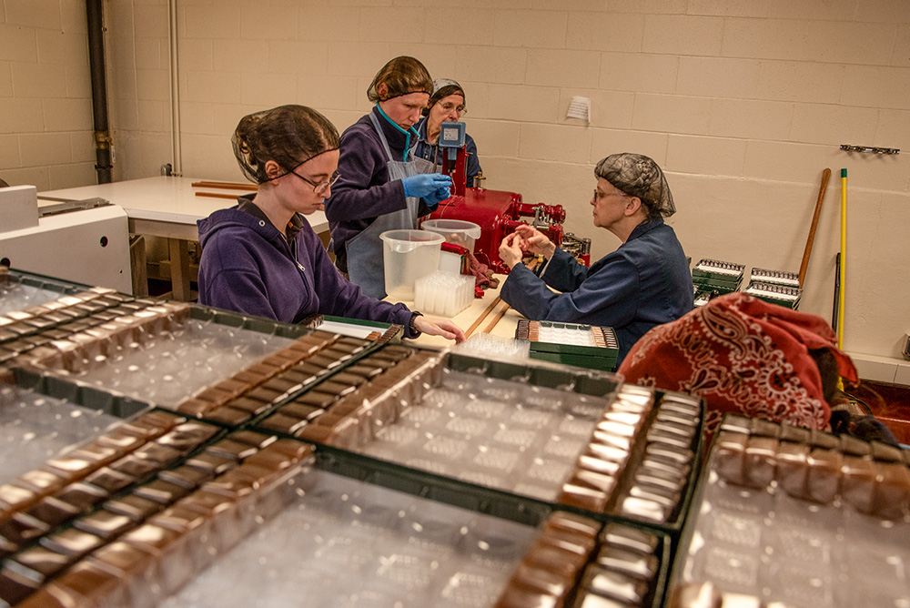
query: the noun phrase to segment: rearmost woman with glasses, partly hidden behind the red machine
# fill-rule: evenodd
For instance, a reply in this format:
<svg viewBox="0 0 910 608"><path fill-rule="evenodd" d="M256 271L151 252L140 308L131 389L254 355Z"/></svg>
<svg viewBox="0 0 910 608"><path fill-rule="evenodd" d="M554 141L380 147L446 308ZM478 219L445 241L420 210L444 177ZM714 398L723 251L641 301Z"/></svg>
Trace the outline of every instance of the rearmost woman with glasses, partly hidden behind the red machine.
<svg viewBox="0 0 910 608"><path fill-rule="evenodd" d="M464 89L450 78L438 78L433 81L433 94L430 96L430 107L423 110L423 118L417 125L420 140L414 155L429 160L436 167L442 167L442 150L439 147L440 131L445 121L456 122L467 111ZM468 152L465 175L467 186L474 186L474 177L480 173L480 160L477 157L477 145L467 133L464 145Z"/></svg>

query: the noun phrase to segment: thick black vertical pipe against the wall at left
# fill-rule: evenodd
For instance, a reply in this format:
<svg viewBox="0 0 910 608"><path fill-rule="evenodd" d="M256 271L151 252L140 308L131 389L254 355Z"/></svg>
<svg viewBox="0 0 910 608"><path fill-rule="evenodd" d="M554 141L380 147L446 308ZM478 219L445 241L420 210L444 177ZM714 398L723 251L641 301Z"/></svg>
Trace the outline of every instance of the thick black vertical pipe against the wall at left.
<svg viewBox="0 0 910 608"><path fill-rule="evenodd" d="M92 73L92 115L95 121L95 170L99 184L111 182L111 137L107 130L107 78L102 0L86 0L88 63Z"/></svg>

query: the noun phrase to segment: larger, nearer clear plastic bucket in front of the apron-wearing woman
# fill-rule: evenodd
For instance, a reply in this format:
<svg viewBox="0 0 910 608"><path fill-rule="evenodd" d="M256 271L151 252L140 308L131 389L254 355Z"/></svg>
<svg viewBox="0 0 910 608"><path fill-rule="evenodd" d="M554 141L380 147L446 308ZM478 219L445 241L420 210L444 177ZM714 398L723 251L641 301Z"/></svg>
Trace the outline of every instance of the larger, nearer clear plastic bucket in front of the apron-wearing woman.
<svg viewBox="0 0 910 608"><path fill-rule="evenodd" d="M382 239L382 268L386 294L392 299L414 299L414 281L440 266L445 238L428 230L387 230Z"/></svg>

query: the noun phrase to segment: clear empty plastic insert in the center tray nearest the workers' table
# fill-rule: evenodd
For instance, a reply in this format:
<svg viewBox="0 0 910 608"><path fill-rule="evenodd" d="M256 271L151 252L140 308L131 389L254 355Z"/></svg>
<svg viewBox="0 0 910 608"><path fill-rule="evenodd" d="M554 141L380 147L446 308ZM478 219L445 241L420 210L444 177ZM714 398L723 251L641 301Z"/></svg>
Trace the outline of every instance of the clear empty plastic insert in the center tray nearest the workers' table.
<svg viewBox="0 0 910 608"><path fill-rule="evenodd" d="M422 378L389 379L371 400L369 426L343 447L554 502L610 403L609 395L451 370L439 357L423 370Z"/></svg>

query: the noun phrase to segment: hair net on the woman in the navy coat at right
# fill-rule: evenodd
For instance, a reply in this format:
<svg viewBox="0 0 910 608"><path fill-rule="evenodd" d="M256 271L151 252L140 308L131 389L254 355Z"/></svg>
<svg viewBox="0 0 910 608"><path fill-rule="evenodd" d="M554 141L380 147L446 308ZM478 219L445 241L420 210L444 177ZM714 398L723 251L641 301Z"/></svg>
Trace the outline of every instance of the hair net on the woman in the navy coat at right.
<svg viewBox="0 0 910 608"><path fill-rule="evenodd" d="M641 198L648 218L669 218L676 213L667 178L649 157L629 152L612 154L597 163L594 175L632 197Z"/></svg>

